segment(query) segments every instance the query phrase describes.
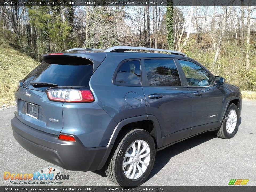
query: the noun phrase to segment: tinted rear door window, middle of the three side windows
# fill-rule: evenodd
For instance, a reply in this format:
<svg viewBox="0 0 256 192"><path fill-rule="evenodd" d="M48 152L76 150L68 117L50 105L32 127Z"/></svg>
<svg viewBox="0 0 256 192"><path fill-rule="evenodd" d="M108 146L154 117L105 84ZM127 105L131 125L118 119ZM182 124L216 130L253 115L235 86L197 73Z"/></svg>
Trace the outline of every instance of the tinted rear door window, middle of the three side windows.
<svg viewBox="0 0 256 192"><path fill-rule="evenodd" d="M151 86L181 86L173 59L145 59L147 79Z"/></svg>

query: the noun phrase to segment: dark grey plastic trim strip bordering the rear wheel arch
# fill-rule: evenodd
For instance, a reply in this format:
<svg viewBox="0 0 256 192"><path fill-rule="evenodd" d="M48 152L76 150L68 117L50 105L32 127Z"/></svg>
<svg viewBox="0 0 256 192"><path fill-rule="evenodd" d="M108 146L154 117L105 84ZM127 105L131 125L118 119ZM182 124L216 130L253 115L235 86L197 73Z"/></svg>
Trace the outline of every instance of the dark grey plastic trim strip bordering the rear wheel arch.
<svg viewBox="0 0 256 192"><path fill-rule="evenodd" d="M123 119L115 127L115 129L110 137L108 145L114 144L114 142L117 138L117 135L123 126L125 126L129 123L133 123L133 122L137 122L137 121L145 121L145 120L151 120L153 122L153 125L154 125L153 131L154 132L153 133L151 132L150 134L156 139L156 144L157 144L156 148L158 149L158 148L162 147L163 146L163 138L161 137L160 125L159 125L157 118L154 115L142 115L142 116Z"/></svg>

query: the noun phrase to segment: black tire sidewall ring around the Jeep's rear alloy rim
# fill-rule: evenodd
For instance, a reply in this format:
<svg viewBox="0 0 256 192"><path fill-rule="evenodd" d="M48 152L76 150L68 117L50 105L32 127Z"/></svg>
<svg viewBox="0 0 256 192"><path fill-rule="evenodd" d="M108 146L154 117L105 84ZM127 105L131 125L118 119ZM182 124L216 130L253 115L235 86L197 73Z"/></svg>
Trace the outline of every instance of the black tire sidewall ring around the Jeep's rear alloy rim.
<svg viewBox="0 0 256 192"><path fill-rule="evenodd" d="M149 166L147 167L146 171L143 173L143 175L137 179L129 179L125 176L123 172L123 158L126 153L126 150L128 147L137 140L144 140L147 142L150 148L150 162ZM137 187L141 185L149 176L153 165L155 161L155 143L151 135L145 131L145 130L135 130L133 133L131 133L124 142L121 143L121 147L118 151L117 155L117 161L115 163L116 167L116 174L118 176L118 183L123 187Z"/></svg>

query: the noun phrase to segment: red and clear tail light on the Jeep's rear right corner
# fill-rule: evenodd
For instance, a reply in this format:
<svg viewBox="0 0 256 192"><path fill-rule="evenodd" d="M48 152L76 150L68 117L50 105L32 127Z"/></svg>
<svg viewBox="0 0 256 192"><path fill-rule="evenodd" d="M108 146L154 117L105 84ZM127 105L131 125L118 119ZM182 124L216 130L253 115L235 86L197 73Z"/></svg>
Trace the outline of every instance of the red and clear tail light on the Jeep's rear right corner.
<svg viewBox="0 0 256 192"><path fill-rule="evenodd" d="M93 102L93 94L90 90L78 89L49 89L47 97L51 101L69 102L69 103L89 103Z"/></svg>

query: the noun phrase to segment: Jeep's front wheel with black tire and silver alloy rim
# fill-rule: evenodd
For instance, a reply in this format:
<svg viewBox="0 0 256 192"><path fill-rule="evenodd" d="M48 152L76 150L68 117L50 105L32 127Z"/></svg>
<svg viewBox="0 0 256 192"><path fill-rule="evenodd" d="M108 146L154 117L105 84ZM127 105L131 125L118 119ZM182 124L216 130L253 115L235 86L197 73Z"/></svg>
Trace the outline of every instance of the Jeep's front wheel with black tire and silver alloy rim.
<svg viewBox="0 0 256 192"><path fill-rule="evenodd" d="M231 103L227 109L221 127L215 131L217 137L223 139L230 139L234 137L238 131L238 121L239 114L237 106L234 103Z"/></svg>

